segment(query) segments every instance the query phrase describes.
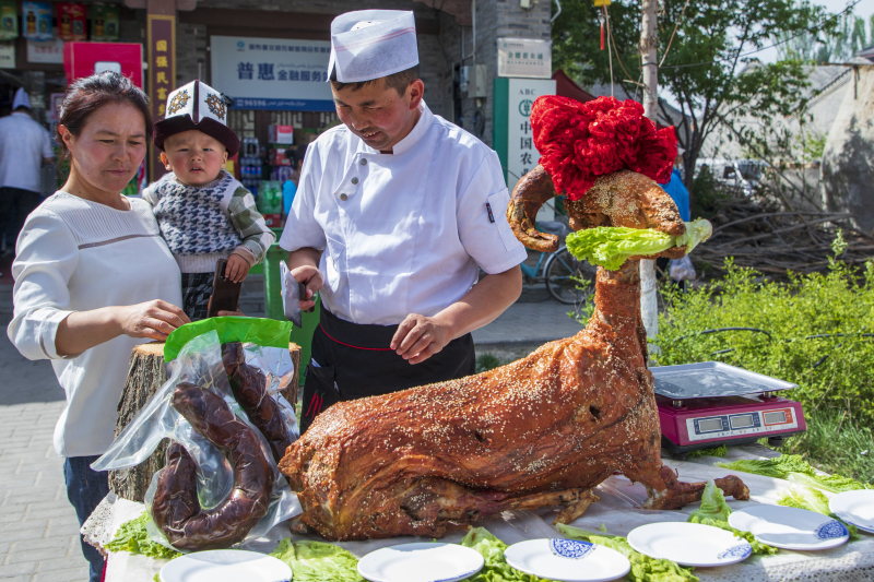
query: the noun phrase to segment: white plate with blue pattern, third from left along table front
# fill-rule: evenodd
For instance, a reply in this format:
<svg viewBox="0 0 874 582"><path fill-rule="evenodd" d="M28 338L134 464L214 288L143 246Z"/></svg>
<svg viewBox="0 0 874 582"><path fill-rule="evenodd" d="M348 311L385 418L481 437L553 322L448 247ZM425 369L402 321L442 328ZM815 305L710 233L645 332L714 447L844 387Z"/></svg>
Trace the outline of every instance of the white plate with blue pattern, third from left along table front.
<svg viewBox="0 0 874 582"><path fill-rule="evenodd" d="M628 573L628 558L604 546L576 539L529 539L504 550L512 568L562 582L606 582Z"/></svg>

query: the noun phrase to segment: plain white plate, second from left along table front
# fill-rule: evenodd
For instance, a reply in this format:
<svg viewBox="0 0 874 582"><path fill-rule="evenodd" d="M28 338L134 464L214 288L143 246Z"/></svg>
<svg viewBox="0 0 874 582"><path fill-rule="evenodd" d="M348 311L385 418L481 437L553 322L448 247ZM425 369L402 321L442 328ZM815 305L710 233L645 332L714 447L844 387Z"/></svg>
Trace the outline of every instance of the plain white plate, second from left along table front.
<svg viewBox="0 0 874 582"><path fill-rule="evenodd" d="M401 544L371 551L358 561L370 582L456 582L483 568L475 549L456 544Z"/></svg>

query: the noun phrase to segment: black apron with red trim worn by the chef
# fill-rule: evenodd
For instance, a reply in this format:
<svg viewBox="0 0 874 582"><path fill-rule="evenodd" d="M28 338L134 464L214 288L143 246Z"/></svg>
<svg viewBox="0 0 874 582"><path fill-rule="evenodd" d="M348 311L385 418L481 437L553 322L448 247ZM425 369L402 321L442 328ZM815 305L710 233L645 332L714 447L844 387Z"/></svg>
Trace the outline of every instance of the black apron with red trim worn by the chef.
<svg viewBox="0 0 874 582"><path fill-rule="evenodd" d="M473 336L449 342L420 364L391 349L398 325L371 325L342 320L321 306L312 335L312 361L307 366L300 432L330 405L377 396L417 385L471 376L476 368Z"/></svg>

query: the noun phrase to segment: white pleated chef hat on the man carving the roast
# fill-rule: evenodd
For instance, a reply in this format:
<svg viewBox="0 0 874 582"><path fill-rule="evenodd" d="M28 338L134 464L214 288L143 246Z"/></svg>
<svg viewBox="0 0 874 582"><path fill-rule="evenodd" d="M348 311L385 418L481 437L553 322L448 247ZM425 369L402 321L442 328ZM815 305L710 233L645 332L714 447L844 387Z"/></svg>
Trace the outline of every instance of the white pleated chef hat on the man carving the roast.
<svg viewBox="0 0 874 582"><path fill-rule="evenodd" d="M328 79L341 83L373 81L418 64L416 23L412 12L358 10L331 23Z"/></svg>

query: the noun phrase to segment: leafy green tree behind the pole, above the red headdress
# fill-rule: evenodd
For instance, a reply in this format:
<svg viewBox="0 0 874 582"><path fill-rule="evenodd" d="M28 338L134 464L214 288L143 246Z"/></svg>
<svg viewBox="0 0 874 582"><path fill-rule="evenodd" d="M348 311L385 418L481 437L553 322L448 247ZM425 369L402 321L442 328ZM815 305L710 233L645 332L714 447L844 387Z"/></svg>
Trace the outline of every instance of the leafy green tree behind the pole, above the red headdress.
<svg viewBox="0 0 874 582"><path fill-rule="evenodd" d="M591 0L563 0L562 8L553 23L555 67L583 85L609 83L607 51L599 46L600 9ZM634 95L641 76L640 1L615 0L607 10L615 45L613 81ZM659 69L659 85L673 96L686 119L676 133L686 151L683 162L690 192L695 163L708 135L723 128L736 139L734 120L784 118L806 104L807 74L800 59L751 67L748 54L771 45L778 34L832 25L834 19L826 17L822 7L791 0L662 1L659 54L663 56L671 46ZM660 106L668 116L664 102Z"/></svg>

